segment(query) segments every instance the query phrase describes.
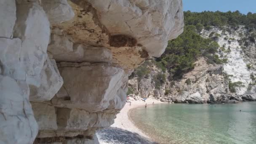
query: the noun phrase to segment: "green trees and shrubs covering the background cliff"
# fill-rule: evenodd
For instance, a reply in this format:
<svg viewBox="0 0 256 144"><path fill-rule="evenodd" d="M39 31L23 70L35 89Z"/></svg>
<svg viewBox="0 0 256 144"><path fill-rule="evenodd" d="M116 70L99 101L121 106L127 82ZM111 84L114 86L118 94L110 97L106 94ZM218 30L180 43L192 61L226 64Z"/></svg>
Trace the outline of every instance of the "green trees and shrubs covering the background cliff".
<svg viewBox="0 0 256 144"><path fill-rule="evenodd" d="M228 63L228 59L223 56L223 53L229 54L231 52L230 46L226 47L226 44L224 44L220 47L216 41L219 40L221 35L226 35L227 32L232 34L240 25L244 25L248 29L247 34L239 34L241 37L241 40L239 40L241 49L245 50L245 47L250 42L255 43L256 40L256 33L253 31L256 29L256 13L244 15L239 11L204 11L201 13L185 11L184 22L184 32L175 40L168 41L168 46L163 55L146 60L144 64L133 72L131 77L137 76L139 80L143 77L147 78L150 75L150 67L154 65L154 67L162 71L154 74L152 78L155 88L160 89L161 85L165 83L166 73L168 73L167 78L169 81L180 80L185 73L194 69L194 63L200 57L205 57L208 64ZM211 32L208 38L203 38L200 35L203 29L211 30L213 27L222 29L221 35L217 32ZM234 42L235 38L226 36L224 40L227 40L230 44ZM218 52L222 54L218 55ZM247 67L250 69L251 64L248 64ZM243 84L242 82L232 83L229 80L230 76L232 75L224 75L229 81L229 90L235 92L236 87L243 86ZM209 79L206 82L209 82ZM187 79L186 83L190 85L192 81ZM168 90L165 91L165 95L168 93Z"/></svg>

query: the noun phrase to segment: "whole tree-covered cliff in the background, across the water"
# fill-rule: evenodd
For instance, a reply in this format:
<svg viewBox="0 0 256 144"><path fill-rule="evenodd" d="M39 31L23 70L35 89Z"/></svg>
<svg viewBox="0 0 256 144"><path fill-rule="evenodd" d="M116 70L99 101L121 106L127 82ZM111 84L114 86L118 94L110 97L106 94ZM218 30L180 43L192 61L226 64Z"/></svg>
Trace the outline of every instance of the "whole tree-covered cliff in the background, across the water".
<svg viewBox="0 0 256 144"><path fill-rule="evenodd" d="M210 16L206 26L204 15ZM185 12L184 33L168 43L163 56L133 72L128 94L175 103L255 101L256 18L251 15Z"/></svg>

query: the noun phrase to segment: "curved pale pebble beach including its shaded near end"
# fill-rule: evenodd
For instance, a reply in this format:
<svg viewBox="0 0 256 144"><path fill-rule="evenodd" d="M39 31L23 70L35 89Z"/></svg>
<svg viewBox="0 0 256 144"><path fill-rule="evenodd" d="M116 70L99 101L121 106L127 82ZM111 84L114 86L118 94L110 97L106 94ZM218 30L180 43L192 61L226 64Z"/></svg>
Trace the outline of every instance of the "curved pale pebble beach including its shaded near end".
<svg viewBox="0 0 256 144"><path fill-rule="evenodd" d="M137 128L132 120L130 119L128 113L131 109L137 107L144 107L145 104L151 105L152 103L162 104L163 102L157 101L156 99L147 99L144 101L131 101L131 106L129 103L125 104L125 107L117 114L115 123L111 125L110 128L98 131L97 136L99 137L100 144L125 144L125 137L127 137L127 143L131 144L131 141L140 141L139 143L153 143L145 133L143 133L139 128ZM108 134L107 134L108 133ZM112 134L110 134L112 133ZM122 136L120 136L120 134ZM125 136L124 136L125 135ZM129 139L133 137L133 139ZM120 138L120 139L119 139ZM129 142L128 142L129 141Z"/></svg>

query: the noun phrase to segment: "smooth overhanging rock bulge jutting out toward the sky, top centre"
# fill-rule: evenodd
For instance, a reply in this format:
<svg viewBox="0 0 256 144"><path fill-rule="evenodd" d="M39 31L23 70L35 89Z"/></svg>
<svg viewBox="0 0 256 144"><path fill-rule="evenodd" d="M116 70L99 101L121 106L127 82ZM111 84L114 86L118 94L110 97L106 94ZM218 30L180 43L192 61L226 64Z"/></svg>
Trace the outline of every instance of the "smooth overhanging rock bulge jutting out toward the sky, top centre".
<svg viewBox="0 0 256 144"><path fill-rule="evenodd" d="M101 23L110 34L130 35L144 46L149 56L160 56L167 41L183 32L181 0L88 0L96 8ZM113 37L110 45L115 46ZM133 43L131 43L133 44ZM118 42L118 46L125 43ZM117 47L117 46L116 46ZM155 51L155 48L158 48Z"/></svg>

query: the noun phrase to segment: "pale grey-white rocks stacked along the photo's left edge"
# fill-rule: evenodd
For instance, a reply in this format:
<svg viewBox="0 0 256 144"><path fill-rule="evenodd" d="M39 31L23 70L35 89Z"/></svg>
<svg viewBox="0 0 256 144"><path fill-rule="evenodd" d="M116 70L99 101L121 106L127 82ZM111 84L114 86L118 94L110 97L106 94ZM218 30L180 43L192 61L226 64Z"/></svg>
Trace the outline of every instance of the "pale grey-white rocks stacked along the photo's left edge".
<svg viewBox="0 0 256 144"><path fill-rule="evenodd" d="M29 95L53 97L63 83L46 53L50 23L40 1L0 0L0 4L0 144L32 144L40 123L48 121L40 115L38 127ZM37 109L48 112L41 108ZM51 112L55 113L54 107Z"/></svg>

